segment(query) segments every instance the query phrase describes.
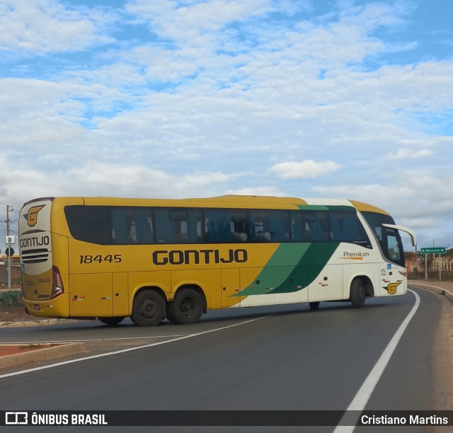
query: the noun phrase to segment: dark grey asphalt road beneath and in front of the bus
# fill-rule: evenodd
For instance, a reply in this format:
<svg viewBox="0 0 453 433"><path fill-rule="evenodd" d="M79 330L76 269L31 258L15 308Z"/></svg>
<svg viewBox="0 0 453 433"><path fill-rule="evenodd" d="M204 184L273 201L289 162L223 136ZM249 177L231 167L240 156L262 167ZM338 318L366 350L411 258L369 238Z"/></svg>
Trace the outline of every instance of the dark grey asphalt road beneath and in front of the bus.
<svg viewBox="0 0 453 433"><path fill-rule="evenodd" d="M431 356L440 301L426 291L414 291L420 306L365 402L366 410L435 409ZM358 310L347 303L323 303L319 311L309 311L304 304L214 311L197 325L164 322L155 328L137 328L124 321L108 328L90 321L4 329L2 342L85 340L89 352L0 371L0 408L345 410L414 304L410 292L371 299ZM45 366L49 368L36 369ZM33 431L41 428L49 429L33 427ZM127 431L135 429L127 427ZM213 427L153 431L212 432ZM302 430L216 427L216 431ZM411 432L424 431L411 427Z"/></svg>

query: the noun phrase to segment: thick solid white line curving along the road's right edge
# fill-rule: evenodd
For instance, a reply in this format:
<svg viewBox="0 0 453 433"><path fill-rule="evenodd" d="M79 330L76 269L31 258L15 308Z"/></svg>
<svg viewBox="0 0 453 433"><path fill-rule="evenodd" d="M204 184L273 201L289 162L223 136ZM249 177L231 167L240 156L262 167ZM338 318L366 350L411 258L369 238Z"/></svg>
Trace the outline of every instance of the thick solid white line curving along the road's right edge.
<svg viewBox="0 0 453 433"><path fill-rule="evenodd" d="M365 379L365 382L362 383L362 386L360 387L359 391L357 391L357 394L355 394L355 397L348 406L348 409L346 409L345 415L340 420L339 422L340 425L338 425L336 429L333 430L333 433L352 433L354 431L355 429L354 426L341 425L342 422L346 422L346 420L348 420L348 422L352 421L352 417L351 415L348 415L348 411L365 410L365 406L367 405L368 400L371 397L372 392L374 391L374 388L379 382L379 379L381 379L381 376L384 373L384 369L386 368L387 364L389 364L391 355L395 352L399 340L401 340L401 337L403 336L404 331L408 327L408 324L411 322L413 316L415 316L415 313L418 310L418 307L420 306L420 296L418 296L418 294L411 289L408 289L408 291L411 291L415 296L414 306L404 319L403 323L401 323L400 327L390 340L384 352L382 352L381 357L377 360L377 363L374 365L372 371L370 371L367 379ZM354 422L357 422L357 419L355 419Z"/></svg>

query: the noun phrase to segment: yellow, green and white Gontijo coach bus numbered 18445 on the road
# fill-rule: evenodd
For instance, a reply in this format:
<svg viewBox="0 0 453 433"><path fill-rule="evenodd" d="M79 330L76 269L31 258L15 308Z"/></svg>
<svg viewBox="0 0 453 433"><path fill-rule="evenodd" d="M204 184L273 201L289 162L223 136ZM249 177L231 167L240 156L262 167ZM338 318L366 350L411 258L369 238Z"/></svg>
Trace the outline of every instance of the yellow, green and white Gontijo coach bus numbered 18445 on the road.
<svg viewBox="0 0 453 433"><path fill-rule="evenodd" d="M350 200L47 197L23 205L23 302L38 317L188 324L214 308L406 293L403 243Z"/></svg>

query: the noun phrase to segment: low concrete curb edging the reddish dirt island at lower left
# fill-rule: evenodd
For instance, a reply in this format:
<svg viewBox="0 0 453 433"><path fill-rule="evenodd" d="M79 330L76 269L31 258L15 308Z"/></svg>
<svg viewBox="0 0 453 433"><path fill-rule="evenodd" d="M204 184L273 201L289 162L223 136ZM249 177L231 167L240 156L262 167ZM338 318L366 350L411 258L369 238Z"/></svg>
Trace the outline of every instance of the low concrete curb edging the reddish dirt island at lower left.
<svg viewBox="0 0 453 433"><path fill-rule="evenodd" d="M45 347L44 349L35 349L28 352L0 357L0 369L28 364L29 362L40 362L47 359L67 357L81 352L86 352L86 347L83 342L63 343L53 347Z"/></svg>

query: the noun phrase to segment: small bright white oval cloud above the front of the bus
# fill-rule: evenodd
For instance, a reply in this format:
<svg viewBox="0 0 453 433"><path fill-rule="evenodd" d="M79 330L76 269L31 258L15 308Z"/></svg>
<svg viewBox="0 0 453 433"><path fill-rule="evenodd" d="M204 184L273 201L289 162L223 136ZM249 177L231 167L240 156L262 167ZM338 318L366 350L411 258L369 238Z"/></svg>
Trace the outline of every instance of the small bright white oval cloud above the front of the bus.
<svg viewBox="0 0 453 433"><path fill-rule="evenodd" d="M277 163L269 171L282 179L314 179L340 169L333 161L316 162L311 159L304 161L287 161Z"/></svg>

